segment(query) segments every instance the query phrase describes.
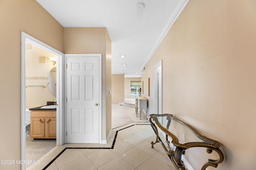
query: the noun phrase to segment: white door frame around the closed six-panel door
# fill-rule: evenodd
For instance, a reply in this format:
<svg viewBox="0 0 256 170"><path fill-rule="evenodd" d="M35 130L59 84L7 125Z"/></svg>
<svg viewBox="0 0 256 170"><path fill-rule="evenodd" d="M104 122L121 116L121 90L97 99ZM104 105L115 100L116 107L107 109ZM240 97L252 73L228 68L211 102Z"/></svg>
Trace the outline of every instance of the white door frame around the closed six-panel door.
<svg viewBox="0 0 256 170"><path fill-rule="evenodd" d="M99 57L99 143L104 144L102 141L102 54L65 54L65 65L67 64L67 57ZM67 97L66 89L66 76L67 70L65 69L65 98ZM65 132L67 131L67 103L65 102ZM66 135L64 142L67 142Z"/></svg>

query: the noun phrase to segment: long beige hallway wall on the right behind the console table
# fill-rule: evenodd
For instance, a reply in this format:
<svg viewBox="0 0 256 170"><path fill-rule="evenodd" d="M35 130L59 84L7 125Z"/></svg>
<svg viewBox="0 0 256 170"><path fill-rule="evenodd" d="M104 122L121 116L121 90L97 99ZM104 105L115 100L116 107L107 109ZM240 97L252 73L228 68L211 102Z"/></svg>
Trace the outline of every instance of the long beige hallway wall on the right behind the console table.
<svg viewBox="0 0 256 170"><path fill-rule="evenodd" d="M190 0L142 70L152 87L153 67L163 60L163 113L220 141L220 170L256 167L255 9L255 0ZM195 170L211 158L196 150L186 151Z"/></svg>

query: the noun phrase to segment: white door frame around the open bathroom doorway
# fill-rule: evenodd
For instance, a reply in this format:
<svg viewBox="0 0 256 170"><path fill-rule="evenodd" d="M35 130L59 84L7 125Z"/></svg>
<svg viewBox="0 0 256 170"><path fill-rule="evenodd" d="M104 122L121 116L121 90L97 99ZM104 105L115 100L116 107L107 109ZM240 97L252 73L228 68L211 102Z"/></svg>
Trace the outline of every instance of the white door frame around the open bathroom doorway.
<svg viewBox="0 0 256 170"><path fill-rule="evenodd" d="M21 160L26 160L26 41L57 56L56 145L64 144L64 54L21 31ZM22 164L21 169L25 170L26 165Z"/></svg>

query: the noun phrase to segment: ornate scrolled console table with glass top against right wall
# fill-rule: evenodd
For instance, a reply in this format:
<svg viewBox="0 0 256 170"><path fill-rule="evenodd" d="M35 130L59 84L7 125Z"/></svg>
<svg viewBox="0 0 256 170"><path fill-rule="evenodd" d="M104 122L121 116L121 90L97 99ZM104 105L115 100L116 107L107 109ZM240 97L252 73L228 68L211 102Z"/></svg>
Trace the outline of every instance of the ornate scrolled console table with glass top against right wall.
<svg viewBox="0 0 256 170"><path fill-rule="evenodd" d="M154 148L154 144L161 143L165 152L170 156L172 164L176 170L187 170L182 161L182 154L185 154L185 150L191 147L205 147L207 148L206 152L209 154L214 150L220 157L218 160L209 159L208 162L202 166L201 170L205 170L208 166L213 166L216 168L218 164L223 161L224 155L219 149L220 143L218 141L205 137L194 127L174 117L174 115L151 114L149 121L156 132L156 141L151 142L152 148ZM164 143L162 143L162 141L158 138L158 128L156 125L166 134L166 143L168 149L166 149ZM172 139L171 143L176 147L175 150L171 149L168 137Z"/></svg>

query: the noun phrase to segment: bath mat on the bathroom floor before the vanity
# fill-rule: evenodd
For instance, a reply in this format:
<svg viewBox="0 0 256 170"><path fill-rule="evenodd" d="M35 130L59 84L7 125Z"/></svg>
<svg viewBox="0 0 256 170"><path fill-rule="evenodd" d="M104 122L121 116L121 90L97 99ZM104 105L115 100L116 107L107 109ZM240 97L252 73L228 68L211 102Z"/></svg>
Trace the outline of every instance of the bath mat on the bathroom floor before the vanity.
<svg viewBox="0 0 256 170"><path fill-rule="evenodd" d="M26 139L26 153L47 153L56 146L56 140Z"/></svg>

